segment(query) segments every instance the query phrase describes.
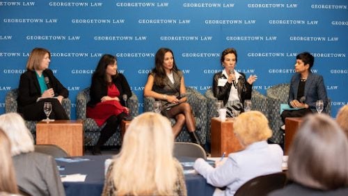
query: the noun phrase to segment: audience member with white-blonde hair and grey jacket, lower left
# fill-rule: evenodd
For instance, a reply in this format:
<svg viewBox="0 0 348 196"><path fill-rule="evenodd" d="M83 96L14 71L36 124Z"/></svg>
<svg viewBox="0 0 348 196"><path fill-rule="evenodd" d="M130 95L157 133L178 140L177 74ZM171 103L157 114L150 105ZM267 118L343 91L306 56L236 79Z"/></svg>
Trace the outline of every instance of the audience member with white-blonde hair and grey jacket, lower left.
<svg viewBox="0 0 348 196"><path fill-rule="evenodd" d="M10 140L19 189L35 196L65 195L56 161L52 156L33 152L33 136L23 118L17 113L0 115L0 129Z"/></svg>

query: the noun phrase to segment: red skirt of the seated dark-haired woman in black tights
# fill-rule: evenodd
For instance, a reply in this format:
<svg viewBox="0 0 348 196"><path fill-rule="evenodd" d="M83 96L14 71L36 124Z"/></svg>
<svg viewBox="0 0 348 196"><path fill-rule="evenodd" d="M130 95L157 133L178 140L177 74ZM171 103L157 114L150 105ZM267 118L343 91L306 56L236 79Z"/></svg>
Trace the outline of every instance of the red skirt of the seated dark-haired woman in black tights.
<svg viewBox="0 0 348 196"><path fill-rule="evenodd" d="M111 115L119 115L120 113L127 113L119 101L109 100L100 102L95 107L87 107L86 116L93 118L98 126L102 126Z"/></svg>

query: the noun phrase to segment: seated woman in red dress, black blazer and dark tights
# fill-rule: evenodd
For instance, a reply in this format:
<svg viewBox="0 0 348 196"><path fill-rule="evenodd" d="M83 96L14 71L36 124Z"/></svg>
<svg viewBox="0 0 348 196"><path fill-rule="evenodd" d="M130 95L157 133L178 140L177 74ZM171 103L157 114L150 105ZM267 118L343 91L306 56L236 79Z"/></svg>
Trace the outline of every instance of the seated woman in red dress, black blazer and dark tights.
<svg viewBox="0 0 348 196"><path fill-rule="evenodd" d="M115 56L105 54L92 76L90 101L87 104L87 117L93 118L98 126L106 125L100 133L93 154L101 154L100 147L116 132L121 120L129 114L123 96L132 96L129 84L122 74L117 72Z"/></svg>

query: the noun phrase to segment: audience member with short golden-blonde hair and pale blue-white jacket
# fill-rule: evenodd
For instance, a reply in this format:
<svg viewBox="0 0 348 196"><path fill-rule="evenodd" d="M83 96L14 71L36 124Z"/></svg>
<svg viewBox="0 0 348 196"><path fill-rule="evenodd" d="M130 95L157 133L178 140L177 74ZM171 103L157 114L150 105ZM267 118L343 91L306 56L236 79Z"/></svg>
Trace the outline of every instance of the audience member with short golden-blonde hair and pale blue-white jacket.
<svg viewBox="0 0 348 196"><path fill-rule="evenodd" d="M237 117L234 131L244 150L228 155L225 163L216 162L216 168L198 158L193 168L216 188L214 195L234 195L246 181L265 174L281 172L283 150L279 145L267 144L272 136L267 118L259 111L242 113Z"/></svg>

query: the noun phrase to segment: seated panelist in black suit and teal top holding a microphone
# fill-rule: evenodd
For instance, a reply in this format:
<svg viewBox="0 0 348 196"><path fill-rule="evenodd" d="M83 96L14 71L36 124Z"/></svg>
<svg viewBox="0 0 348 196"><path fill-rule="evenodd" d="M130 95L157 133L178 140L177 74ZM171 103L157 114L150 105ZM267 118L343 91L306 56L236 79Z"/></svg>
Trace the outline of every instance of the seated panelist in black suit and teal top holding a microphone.
<svg viewBox="0 0 348 196"><path fill-rule="evenodd" d="M24 120L39 121L46 118L43 111L45 102L51 102L52 113L49 118L69 120L61 102L68 97L68 90L56 79L52 70L49 70L51 54L47 49L35 48L31 51L26 72L19 81L18 112Z"/></svg>

